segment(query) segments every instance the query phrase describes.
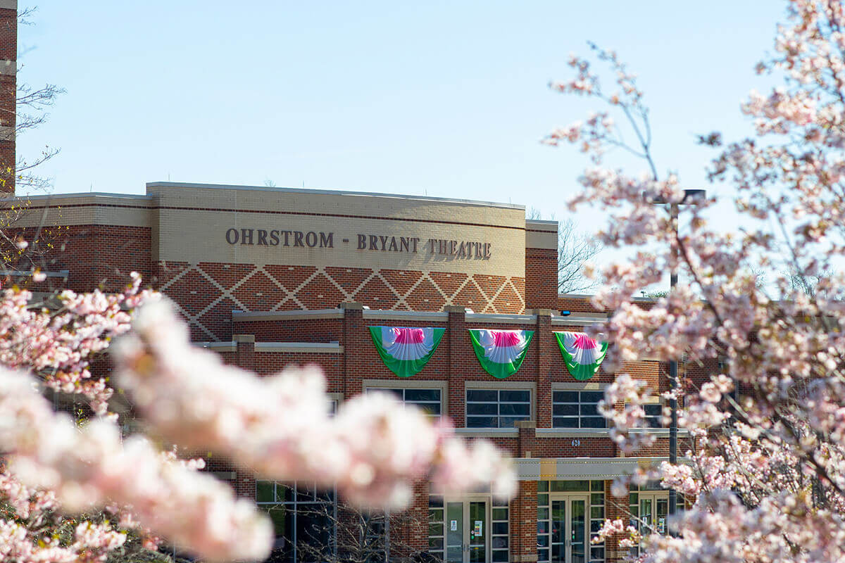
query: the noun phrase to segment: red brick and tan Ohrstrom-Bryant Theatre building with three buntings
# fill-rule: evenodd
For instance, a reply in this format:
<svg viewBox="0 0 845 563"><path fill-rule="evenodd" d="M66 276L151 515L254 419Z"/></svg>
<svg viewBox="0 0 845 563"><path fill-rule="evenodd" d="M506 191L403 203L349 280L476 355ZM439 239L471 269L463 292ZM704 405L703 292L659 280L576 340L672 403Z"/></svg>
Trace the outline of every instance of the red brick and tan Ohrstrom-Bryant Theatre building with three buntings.
<svg viewBox="0 0 845 563"><path fill-rule="evenodd" d="M197 346L232 364L262 375L317 364L335 406L384 390L510 452L510 502L418 483L410 511L390 520L391 560L598 563L629 553L591 544L604 518L631 512L665 529L667 491L610 495L615 477L667 458L662 365L625 365L656 391L652 426L635 431L657 442L624 457L596 410L613 381L595 367L605 349L579 335L606 314L559 297L556 222L504 203L170 182L31 198L21 220L30 236L63 227L44 284L115 290L137 270L176 302ZM341 556L330 491L256 481L237 460L210 468L268 509L275 560Z"/></svg>

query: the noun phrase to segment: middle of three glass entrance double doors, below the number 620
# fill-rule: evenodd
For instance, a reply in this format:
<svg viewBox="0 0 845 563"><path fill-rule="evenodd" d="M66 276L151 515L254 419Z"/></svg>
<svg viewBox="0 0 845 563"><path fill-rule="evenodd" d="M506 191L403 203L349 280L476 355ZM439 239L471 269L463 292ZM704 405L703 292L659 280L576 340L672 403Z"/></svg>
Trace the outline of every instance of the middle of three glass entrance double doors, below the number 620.
<svg viewBox="0 0 845 563"><path fill-rule="evenodd" d="M552 495L552 563L586 563L588 495Z"/></svg>

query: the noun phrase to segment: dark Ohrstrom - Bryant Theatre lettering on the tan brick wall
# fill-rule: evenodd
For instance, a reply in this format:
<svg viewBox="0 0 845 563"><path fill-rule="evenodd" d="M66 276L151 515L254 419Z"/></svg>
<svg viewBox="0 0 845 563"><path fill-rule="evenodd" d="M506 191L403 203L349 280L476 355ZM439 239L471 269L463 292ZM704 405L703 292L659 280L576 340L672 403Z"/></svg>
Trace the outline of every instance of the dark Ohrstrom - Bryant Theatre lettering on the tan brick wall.
<svg viewBox="0 0 845 563"><path fill-rule="evenodd" d="M421 239L418 236L362 235L354 241L348 238L335 239L335 233L313 230L264 230L228 229L226 242L230 245L300 246L303 248L335 248L335 240L341 245L355 245L355 250L379 252L428 253L439 256L466 258L467 260L489 260L492 244L482 241L455 241L453 239Z"/></svg>

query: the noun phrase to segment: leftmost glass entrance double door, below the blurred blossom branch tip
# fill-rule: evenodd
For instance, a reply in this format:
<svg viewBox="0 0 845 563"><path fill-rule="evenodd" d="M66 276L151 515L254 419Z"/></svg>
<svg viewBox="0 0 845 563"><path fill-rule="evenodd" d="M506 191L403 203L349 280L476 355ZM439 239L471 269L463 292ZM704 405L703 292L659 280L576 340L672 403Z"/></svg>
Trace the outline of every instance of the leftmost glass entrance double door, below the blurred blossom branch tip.
<svg viewBox="0 0 845 563"><path fill-rule="evenodd" d="M490 562L490 518L486 499L446 502L447 563Z"/></svg>

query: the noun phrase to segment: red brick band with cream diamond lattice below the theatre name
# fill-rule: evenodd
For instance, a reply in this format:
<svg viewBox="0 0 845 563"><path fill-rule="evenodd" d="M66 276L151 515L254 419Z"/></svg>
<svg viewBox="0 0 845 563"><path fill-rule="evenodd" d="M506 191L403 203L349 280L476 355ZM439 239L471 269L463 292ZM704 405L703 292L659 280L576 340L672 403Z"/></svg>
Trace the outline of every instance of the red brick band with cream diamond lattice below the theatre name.
<svg viewBox="0 0 845 563"><path fill-rule="evenodd" d="M525 279L410 270L252 264L159 263L156 285L177 302L192 338L227 340L232 310L297 311L357 301L371 309L525 311Z"/></svg>

